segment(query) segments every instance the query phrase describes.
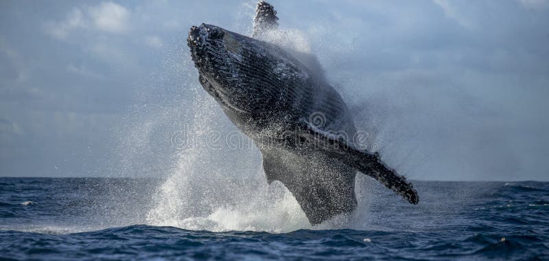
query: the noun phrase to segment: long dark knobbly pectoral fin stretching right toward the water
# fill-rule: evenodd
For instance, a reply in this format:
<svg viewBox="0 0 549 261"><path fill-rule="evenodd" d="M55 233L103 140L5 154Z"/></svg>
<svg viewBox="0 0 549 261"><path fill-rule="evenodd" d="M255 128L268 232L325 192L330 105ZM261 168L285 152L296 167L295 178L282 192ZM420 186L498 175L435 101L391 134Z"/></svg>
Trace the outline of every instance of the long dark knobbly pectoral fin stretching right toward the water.
<svg viewBox="0 0 549 261"><path fill-rule="evenodd" d="M412 204L419 202L417 191L406 178L399 175L394 169L389 168L379 158L379 153L369 153L365 150L356 149L347 141L331 137L329 134L319 132L318 129L303 122L304 126L298 132L296 142L299 146L314 147L322 151L330 158L338 158L344 164L369 175L379 183L384 184Z"/></svg>

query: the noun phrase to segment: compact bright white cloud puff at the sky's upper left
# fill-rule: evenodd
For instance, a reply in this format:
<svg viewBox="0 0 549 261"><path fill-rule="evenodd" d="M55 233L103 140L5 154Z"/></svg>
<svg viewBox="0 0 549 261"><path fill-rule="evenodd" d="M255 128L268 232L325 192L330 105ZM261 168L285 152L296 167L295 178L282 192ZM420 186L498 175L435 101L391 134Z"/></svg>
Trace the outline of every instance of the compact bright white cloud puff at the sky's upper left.
<svg viewBox="0 0 549 261"><path fill-rule="evenodd" d="M97 29L110 33L126 32L130 12L124 6L113 2L102 2L90 8L93 23Z"/></svg>

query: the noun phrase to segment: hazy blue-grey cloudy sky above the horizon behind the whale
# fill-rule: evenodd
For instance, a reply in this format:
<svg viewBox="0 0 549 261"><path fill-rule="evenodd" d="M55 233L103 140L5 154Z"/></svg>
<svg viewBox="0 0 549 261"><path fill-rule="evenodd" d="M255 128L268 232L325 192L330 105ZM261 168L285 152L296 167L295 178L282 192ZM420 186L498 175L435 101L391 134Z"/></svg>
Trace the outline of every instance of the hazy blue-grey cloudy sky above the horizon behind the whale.
<svg viewBox="0 0 549 261"><path fill-rule="evenodd" d="M399 173L549 181L549 1L270 2ZM189 27L250 34L254 9L0 1L0 176L167 175L185 126L235 130L198 84Z"/></svg>

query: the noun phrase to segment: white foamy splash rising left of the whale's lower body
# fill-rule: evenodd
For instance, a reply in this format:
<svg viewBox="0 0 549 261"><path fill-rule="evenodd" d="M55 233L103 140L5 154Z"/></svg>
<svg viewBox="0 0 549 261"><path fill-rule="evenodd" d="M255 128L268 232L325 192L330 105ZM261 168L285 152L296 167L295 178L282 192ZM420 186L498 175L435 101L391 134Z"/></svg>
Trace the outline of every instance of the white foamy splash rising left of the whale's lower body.
<svg viewBox="0 0 549 261"><path fill-rule="evenodd" d="M194 108L200 109L194 111L186 132L231 131L209 97L198 97ZM278 182L267 184L257 149L216 150L194 143L180 151L178 159L154 195L156 206L148 212L148 224L215 232L309 227L291 193Z"/></svg>

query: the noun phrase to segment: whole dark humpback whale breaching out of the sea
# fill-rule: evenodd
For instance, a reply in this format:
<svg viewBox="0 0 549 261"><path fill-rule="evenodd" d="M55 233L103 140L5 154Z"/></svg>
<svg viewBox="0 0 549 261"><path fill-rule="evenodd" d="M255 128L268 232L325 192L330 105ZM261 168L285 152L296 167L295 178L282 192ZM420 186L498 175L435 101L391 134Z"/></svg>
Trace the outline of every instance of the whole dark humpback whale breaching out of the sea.
<svg viewBox="0 0 549 261"><path fill-rule="evenodd" d="M354 144L347 105L314 71L316 60L268 40L277 21L272 5L261 1L251 37L202 24L187 38L200 84L259 147L267 182L282 182L312 225L353 211L358 172L417 204L412 184L379 153Z"/></svg>

